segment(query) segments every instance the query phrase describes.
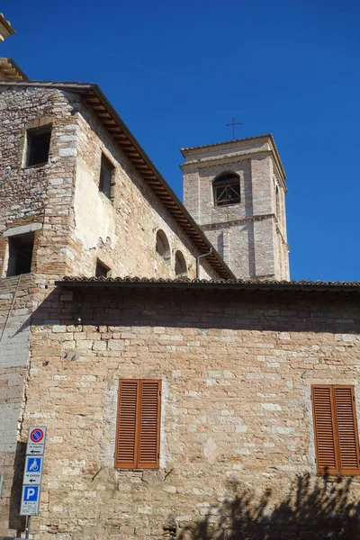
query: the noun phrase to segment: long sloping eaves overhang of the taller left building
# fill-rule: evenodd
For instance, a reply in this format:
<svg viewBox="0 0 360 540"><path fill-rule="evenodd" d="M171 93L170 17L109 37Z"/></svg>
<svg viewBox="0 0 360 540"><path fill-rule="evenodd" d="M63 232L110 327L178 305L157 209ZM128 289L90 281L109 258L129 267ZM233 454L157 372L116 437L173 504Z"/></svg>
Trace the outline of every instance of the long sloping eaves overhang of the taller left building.
<svg viewBox="0 0 360 540"><path fill-rule="evenodd" d="M212 246L210 240L202 232L202 229L193 220L193 217L185 209L184 204L178 199L174 191L167 184L165 178L157 170L146 152L141 148L139 142L130 132L119 114L109 103L103 92L97 85L91 83L76 82L52 82L52 81L4 81L0 82L2 87L44 87L59 88L67 92L82 94L85 103L89 105L96 114L99 121L112 135L118 146L130 160L130 163L137 169L139 175L144 179L149 188L156 193L157 198L163 202L167 211L173 216L175 221L184 230L186 236L190 238L193 246L198 249L199 255L211 251L211 255L206 257L215 272L222 279L235 278L235 275L224 262L220 254Z"/></svg>

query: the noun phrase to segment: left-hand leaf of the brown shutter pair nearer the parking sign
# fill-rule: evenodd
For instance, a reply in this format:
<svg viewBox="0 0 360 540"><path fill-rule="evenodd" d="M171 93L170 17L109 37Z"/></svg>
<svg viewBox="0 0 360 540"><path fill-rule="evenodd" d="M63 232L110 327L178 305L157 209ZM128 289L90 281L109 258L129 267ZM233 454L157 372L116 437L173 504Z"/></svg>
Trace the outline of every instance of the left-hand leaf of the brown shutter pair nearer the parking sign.
<svg viewBox="0 0 360 540"><path fill-rule="evenodd" d="M136 467L136 450L139 446L136 426L138 401L139 381L119 381L115 467Z"/></svg>

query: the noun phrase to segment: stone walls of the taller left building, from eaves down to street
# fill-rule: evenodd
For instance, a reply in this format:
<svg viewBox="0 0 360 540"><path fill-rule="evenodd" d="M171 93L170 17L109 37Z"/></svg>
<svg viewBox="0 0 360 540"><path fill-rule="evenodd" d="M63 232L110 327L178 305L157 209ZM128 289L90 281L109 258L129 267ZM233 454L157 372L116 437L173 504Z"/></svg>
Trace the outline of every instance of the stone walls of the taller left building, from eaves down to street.
<svg viewBox="0 0 360 540"><path fill-rule="evenodd" d="M27 166L28 130L46 126L51 126L49 159ZM115 167L111 201L98 187L102 152ZM81 92L63 85L1 83L0 156L2 535L23 528L23 520L17 518L19 482L16 476L13 482L13 475L14 465L15 475L22 475L17 460L23 455L19 430L31 365L29 329L31 313L48 296L54 279L94 275L98 259L111 275L175 277L178 251L184 255L184 272L195 277L202 250L116 148ZM160 229L169 242L166 257L156 249ZM29 233L31 273L7 277L10 241ZM203 258L200 276L219 274ZM48 322L56 318L54 305Z"/></svg>

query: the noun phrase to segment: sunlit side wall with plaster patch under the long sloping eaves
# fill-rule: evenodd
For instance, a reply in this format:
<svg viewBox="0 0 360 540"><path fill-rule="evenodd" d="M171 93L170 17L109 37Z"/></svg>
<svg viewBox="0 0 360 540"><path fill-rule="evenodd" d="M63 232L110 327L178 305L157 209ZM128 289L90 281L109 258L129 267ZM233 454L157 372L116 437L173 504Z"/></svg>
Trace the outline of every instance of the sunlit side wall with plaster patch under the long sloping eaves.
<svg viewBox="0 0 360 540"><path fill-rule="evenodd" d="M119 146L86 106L76 114L76 190L72 247L74 273L94 275L96 259L111 275L175 277L175 252L185 258L187 274L196 276L196 255L184 231L166 210ZM102 154L115 167L111 199L99 191ZM166 260L156 251L157 230L170 244ZM202 259L201 277L216 277Z"/></svg>

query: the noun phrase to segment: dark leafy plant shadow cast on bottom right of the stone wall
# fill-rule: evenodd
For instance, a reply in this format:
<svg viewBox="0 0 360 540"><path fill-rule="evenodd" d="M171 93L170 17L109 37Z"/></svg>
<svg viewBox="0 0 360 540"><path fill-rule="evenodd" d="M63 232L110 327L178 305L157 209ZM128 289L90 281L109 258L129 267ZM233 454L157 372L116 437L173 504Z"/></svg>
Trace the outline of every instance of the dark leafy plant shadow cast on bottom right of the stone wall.
<svg viewBox="0 0 360 540"><path fill-rule="evenodd" d="M311 481L298 477L284 501L271 506L272 491L257 498L238 482L228 483L229 496L195 524L184 527L180 540L356 540L360 538L360 502L352 500L352 479Z"/></svg>

